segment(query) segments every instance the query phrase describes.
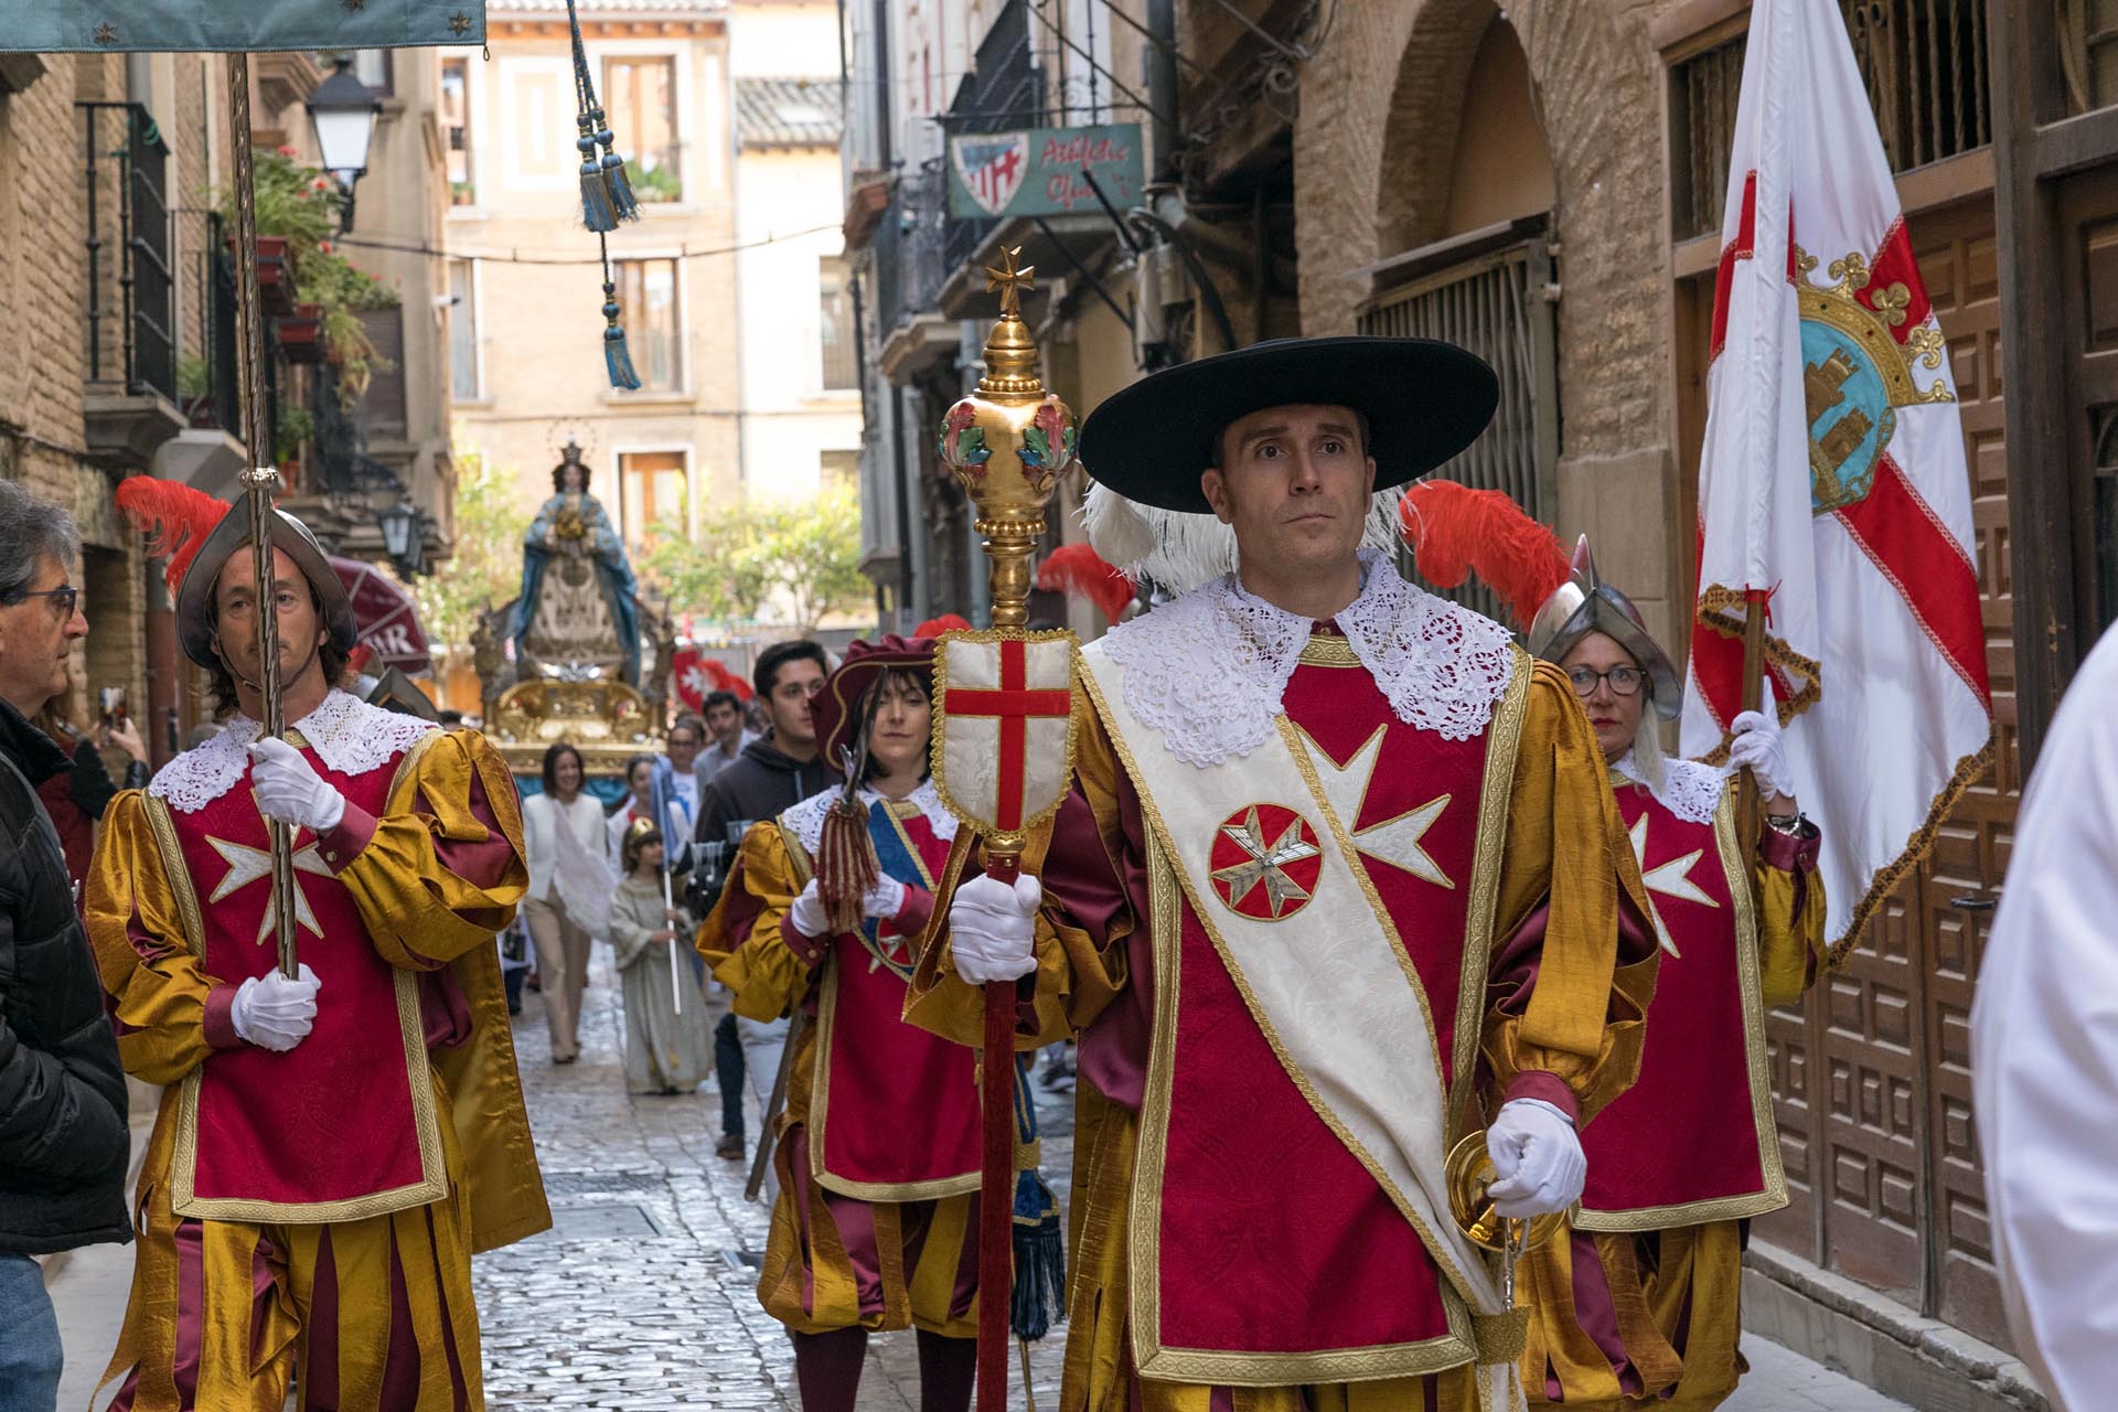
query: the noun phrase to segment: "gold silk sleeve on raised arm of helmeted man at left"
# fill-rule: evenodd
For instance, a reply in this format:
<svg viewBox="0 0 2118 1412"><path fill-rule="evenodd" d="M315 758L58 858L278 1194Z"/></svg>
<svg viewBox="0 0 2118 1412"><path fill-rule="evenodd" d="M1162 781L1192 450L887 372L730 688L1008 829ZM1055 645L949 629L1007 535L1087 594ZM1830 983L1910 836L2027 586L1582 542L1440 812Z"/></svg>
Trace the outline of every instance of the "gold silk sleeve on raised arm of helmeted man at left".
<svg viewBox="0 0 2118 1412"><path fill-rule="evenodd" d="M477 730L415 745L339 881L390 965L430 972L491 946L530 889L521 800L500 752Z"/></svg>

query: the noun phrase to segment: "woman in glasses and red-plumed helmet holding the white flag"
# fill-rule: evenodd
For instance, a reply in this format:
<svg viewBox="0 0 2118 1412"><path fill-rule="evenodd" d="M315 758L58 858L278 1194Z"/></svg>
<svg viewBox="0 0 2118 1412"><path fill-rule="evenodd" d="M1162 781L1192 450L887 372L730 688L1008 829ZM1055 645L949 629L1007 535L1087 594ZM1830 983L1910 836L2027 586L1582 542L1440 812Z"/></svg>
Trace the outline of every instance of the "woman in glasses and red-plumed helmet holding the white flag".
<svg viewBox="0 0 2118 1412"><path fill-rule="evenodd" d="M1747 1221L1788 1205L1764 1010L1815 980L1817 830L1785 783L1773 716L1735 718L1730 768L1663 758L1641 724L1650 707L1677 716L1677 671L1639 610L1597 580L1586 540L1569 572L1550 529L1497 491L1451 483L1415 487L1404 523L1421 574L1455 584L1468 561L1519 605L1529 650L1567 673L1610 762L1663 948L1639 1080L1582 1133L1588 1183L1569 1236L1523 1260L1529 1404L1705 1412L1745 1370ZM1508 542L1512 561L1497 548ZM1749 857L1730 783L1745 764L1766 823Z"/></svg>

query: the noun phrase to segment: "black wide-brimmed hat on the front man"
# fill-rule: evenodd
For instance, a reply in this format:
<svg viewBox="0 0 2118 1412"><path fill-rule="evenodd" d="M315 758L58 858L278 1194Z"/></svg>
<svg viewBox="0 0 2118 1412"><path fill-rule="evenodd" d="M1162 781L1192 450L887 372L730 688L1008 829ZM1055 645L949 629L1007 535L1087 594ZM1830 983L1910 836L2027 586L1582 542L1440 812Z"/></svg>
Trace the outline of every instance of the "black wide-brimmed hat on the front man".
<svg viewBox="0 0 2118 1412"><path fill-rule="evenodd" d="M1080 426L1080 464L1127 500L1207 514L1199 474L1231 421L1267 406L1349 406L1368 419L1381 491L1478 440L1497 402L1493 368L1453 343L1271 339L1110 394Z"/></svg>

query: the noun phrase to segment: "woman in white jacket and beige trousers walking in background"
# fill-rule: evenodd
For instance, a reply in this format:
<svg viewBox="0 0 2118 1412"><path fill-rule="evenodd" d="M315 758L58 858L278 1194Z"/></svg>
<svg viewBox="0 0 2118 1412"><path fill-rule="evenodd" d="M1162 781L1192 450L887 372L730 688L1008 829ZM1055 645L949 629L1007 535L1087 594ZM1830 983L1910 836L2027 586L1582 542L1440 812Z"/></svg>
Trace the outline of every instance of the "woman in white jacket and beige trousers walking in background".
<svg viewBox="0 0 2118 1412"><path fill-rule="evenodd" d="M604 807L582 790L580 752L559 741L544 752L544 792L523 800L530 895L523 921L536 946L551 1061L580 1058L580 986L589 978L589 938L610 925L610 870Z"/></svg>

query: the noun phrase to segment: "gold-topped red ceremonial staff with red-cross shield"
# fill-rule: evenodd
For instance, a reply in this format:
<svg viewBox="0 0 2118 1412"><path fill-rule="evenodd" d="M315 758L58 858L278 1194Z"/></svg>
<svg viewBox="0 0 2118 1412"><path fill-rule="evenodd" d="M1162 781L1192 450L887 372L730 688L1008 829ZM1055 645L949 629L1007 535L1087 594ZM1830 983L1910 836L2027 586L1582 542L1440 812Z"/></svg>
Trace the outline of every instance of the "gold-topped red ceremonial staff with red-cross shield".
<svg viewBox="0 0 2118 1412"><path fill-rule="evenodd" d="M943 633L934 650L934 783L985 836L985 874L1012 883L1029 828L1048 819L1074 773L1074 633L1029 633L1029 559L1044 506L1074 464L1074 413L1044 392L1021 315L1036 271L1008 250L989 288L1000 322L979 390L949 409L940 457L979 506L991 561L991 631ZM1015 1188L1015 986L985 986L983 1179L979 1185L979 1412L1008 1401L1008 1289Z"/></svg>

